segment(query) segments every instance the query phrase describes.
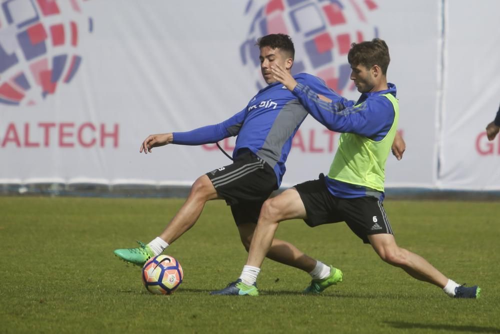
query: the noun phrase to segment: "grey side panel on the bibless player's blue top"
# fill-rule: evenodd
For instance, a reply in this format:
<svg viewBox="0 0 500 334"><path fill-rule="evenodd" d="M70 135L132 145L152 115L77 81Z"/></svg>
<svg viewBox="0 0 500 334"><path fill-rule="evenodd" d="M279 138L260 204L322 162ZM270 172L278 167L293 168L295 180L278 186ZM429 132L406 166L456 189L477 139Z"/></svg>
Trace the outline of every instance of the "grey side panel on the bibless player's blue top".
<svg viewBox="0 0 500 334"><path fill-rule="evenodd" d="M274 120L262 148L257 152L257 156L274 168L281 159L284 144L290 139L295 129L306 116L307 111L298 100L292 100L285 104Z"/></svg>

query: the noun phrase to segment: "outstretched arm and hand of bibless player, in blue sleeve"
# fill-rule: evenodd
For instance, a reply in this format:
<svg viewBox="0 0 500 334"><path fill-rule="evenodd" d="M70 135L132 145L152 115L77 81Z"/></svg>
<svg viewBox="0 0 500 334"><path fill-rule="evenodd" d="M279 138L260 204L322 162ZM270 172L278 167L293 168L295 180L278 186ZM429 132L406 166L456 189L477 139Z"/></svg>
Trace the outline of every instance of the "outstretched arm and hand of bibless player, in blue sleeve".
<svg viewBox="0 0 500 334"><path fill-rule="evenodd" d="M149 135L140 145L139 153L151 152L153 147L168 144L203 145L236 136L243 124L246 108L222 123L207 125L187 132L170 132Z"/></svg>

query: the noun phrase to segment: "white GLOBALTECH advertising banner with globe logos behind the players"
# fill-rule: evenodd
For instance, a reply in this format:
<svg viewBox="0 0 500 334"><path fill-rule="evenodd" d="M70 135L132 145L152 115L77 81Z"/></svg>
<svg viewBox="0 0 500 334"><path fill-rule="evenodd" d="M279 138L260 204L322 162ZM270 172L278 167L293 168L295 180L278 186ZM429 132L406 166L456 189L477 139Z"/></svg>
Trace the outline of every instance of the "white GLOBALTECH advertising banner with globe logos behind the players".
<svg viewBox="0 0 500 334"><path fill-rule="evenodd" d="M349 80L350 44L375 37L387 42L387 79L397 87L407 151L401 161L388 158L386 186L491 185L470 173L481 161L498 161L497 143L489 149L482 137L476 140L494 117L500 88L498 71L487 85L479 80L480 73L498 70L494 62L485 66L484 58L494 59L498 43L482 32L498 32L494 21L478 16L484 28L470 28L473 38L460 40L468 10L451 2L445 43L443 4L3 0L0 183L190 185L230 163L215 144L168 145L141 155L141 142L149 134L216 124L245 108L265 85L256 39L285 33L295 45L293 73L316 75L351 100L359 93ZM449 67L443 76L444 45ZM474 61L462 75L464 55ZM464 132L471 146L461 159L453 152L463 150ZM327 172L338 136L307 117L293 139L283 186ZM234 141L219 144L231 154ZM484 153L489 150L495 153ZM487 173L491 167L479 174Z"/></svg>

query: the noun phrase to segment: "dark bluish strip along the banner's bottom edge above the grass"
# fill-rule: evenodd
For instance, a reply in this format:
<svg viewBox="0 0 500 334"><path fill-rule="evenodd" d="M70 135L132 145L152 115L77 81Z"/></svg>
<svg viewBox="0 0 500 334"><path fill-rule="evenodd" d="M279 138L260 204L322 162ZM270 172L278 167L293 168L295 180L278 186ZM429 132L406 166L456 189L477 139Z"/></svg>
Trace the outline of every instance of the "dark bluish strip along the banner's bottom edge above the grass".
<svg viewBox="0 0 500 334"><path fill-rule="evenodd" d="M274 192L277 194L286 188ZM0 184L0 196L74 196L109 198L185 198L190 187L185 185L94 184L94 183L29 183ZM385 198L500 200L500 190L472 191L432 188L385 188Z"/></svg>

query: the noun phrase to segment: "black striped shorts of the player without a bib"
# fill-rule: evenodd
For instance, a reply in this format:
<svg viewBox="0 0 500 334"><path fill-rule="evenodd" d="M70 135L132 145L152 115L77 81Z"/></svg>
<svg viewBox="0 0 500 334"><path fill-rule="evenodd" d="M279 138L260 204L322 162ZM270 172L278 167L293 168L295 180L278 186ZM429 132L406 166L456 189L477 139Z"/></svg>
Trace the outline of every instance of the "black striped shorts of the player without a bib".
<svg viewBox="0 0 500 334"><path fill-rule="evenodd" d="M219 197L231 206L236 225L257 223L262 203L277 189L274 170L250 151L230 165L206 173Z"/></svg>

